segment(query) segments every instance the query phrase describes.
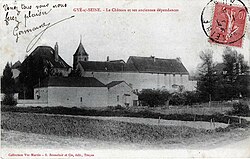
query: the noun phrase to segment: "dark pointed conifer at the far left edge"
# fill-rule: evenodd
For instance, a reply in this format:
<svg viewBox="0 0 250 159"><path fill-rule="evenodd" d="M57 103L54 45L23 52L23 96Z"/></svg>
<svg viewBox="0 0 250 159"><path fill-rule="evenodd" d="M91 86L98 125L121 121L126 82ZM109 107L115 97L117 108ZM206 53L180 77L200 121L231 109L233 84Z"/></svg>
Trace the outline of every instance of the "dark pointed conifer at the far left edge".
<svg viewBox="0 0 250 159"><path fill-rule="evenodd" d="M9 63L4 68L3 76L1 77L1 86L1 93L15 93L15 80Z"/></svg>

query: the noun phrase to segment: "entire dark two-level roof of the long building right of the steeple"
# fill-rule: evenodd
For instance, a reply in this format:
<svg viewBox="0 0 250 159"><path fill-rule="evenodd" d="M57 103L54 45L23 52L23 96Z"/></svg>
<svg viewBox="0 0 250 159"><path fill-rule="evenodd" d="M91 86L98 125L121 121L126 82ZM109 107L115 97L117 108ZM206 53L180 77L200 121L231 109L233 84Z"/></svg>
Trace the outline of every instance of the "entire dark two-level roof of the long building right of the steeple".
<svg viewBox="0 0 250 159"><path fill-rule="evenodd" d="M188 74L178 59L160 59L152 57L130 56L127 63L80 61L85 71L99 72L145 72Z"/></svg>

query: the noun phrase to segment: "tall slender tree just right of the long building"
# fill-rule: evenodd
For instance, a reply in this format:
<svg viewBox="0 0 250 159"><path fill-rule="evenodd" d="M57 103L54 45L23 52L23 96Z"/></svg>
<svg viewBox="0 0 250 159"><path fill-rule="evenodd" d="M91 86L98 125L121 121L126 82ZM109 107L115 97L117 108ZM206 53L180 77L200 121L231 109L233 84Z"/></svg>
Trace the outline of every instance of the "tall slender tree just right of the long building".
<svg viewBox="0 0 250 159"><path fill-rule="evenodd" d="M203 100L209 101L214 98L216 92L217 77L214 74L213 51L205 50L200 53L202 60L199 66L199 80L197 83L197 90Z"/></svg>

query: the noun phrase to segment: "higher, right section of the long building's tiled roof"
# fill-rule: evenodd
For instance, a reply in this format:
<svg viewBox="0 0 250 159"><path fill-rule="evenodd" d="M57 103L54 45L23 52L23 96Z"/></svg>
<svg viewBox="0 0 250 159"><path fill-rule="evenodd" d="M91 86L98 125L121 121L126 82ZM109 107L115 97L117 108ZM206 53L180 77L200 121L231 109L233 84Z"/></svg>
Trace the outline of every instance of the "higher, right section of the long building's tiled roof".
<svg viewBox="0 0 250 159"><path fill-rule="evenodd" d="M130 56L127 63L134 64L139 72L188 74L187 69L178 59Z"/></svg>

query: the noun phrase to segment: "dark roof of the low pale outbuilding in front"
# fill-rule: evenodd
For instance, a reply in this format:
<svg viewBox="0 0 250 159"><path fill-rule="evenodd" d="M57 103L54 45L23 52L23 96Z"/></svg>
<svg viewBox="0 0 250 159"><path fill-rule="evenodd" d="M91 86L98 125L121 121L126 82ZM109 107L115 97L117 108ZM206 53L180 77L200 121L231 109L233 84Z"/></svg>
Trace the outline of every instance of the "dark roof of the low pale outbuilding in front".
<svg viewBox="0 0 250 159"><path fill-rule="evenodd" d="M94 77L49 77L34 87L106 87Z"/></svg>

